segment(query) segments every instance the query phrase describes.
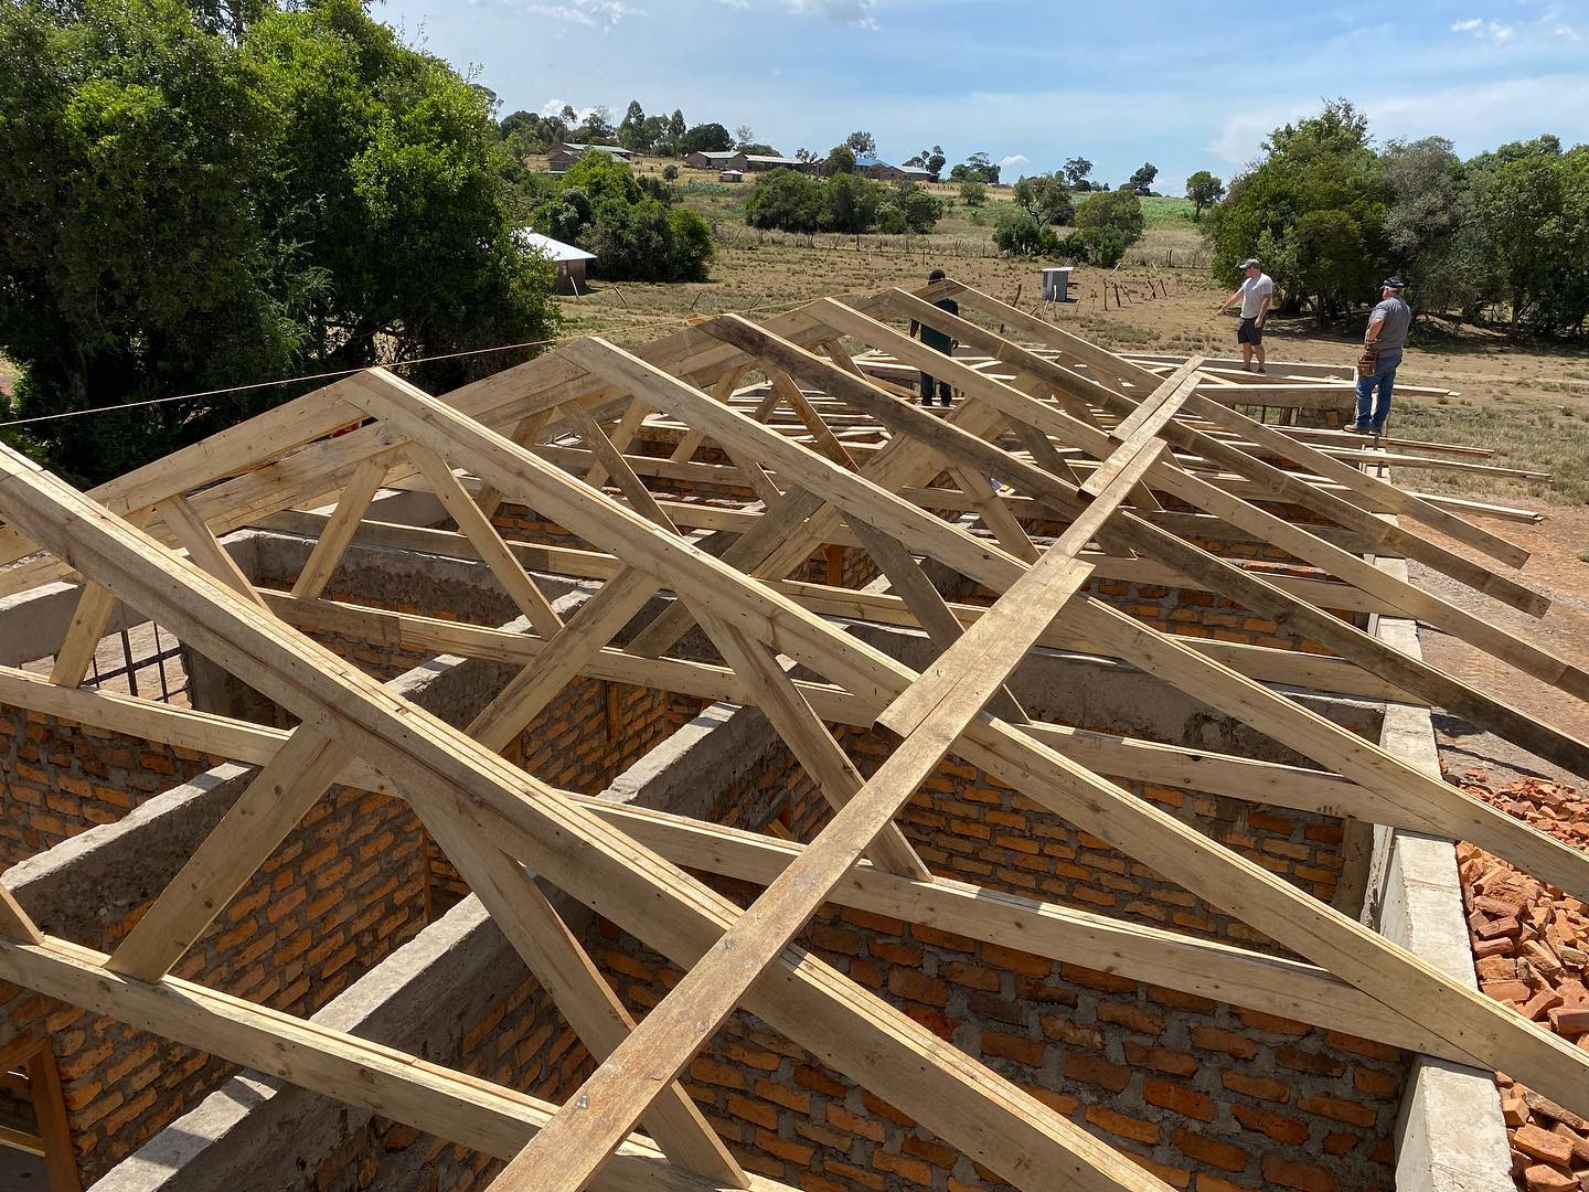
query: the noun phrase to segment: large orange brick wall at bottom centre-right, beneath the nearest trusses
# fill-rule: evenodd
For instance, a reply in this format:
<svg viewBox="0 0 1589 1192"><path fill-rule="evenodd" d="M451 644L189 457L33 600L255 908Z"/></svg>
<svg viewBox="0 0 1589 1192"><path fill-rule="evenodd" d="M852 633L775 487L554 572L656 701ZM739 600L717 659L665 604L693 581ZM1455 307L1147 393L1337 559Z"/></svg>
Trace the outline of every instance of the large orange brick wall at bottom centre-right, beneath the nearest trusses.
<svg viewBox="0 0 1589 1192"><path fill-rule="evenodd" d="M860 911L829 908L806 944L1174 1187L1395 1184L1392 1047ZM594 955L631 1006L677 982L612 925ZM794 1187L1006 1187L747 1012L688 1087L745 1167Z"/></svg>

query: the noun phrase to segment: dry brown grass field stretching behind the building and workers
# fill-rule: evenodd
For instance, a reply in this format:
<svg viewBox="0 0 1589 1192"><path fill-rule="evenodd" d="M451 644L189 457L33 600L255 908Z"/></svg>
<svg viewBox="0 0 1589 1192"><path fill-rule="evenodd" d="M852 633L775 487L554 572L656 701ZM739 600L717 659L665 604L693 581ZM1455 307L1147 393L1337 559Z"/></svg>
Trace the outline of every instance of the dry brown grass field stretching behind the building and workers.
<svg viewBox="0 0 1589 1192"><path fill-rule="evenodd" d="M642 164L642 170L653 170ZM655 167L659 172L659 164ZM941 267L979 289L1039 308L1039 262L999 257L992 227L1007 188L990 189L982 208L966 208L957 188L934 188L953 202L949 218L926 237L790 235L760 232L742 219L748 184L723 184L683 170L683 200L712 221L718 254L704 284L593 281L580 297L563 299L566 332L604 334L639 343L666 334L693 315L742 312L774 315L817 297L860 296L882 286L920 283ZM1162 353L1235 354L1235 319L1212 318L1224 292L1203 267L1206 254L1185 200L1149 200L1149 230L1119 270L1077 269L1073 302L1044 313L1060 326L1111 348ZM1166 264L1173 262L1173 264ZM1104 286L1108 284L1108 308ZM1119 286L1123 305L1115 304ZM1347 364L1355 359L1362 318L1320 331L1309 318L1273 318L1268 348L1276 361ZM1508 467L1552 472L1552 485L1527 485L1448 472L1416 478L1429 491L1494 496L1519 504L1589 505L1589 348L1532 342L1494 329L1421 326L1401 380L1456 389L1451 399L1403 399L1392 413L1395 434L1471 443L1495 451ZM1589 548L1589 542L1578 544ZM1575 551L1576 553L1576 551Z"/></svg>

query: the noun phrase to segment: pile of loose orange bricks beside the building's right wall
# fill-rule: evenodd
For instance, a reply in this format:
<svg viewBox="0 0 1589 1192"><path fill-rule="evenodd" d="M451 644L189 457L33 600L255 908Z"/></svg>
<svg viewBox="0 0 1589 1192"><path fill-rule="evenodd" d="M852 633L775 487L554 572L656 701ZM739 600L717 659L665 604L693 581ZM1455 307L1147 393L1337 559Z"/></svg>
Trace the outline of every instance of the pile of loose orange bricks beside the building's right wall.
<svg viewBox="0 0 1589 1192"><path fill-rule="evenodd" d="M1589 798L1522 779L1490 788L1470 771L1470 795L1589 850ZM1468 938L1479 987L1524 1017L1589 1051L1589 908L1471 844L1457 846ZM1589 1192L1589 1120L1505 1073L1497 1074L1513 1175L1527 1192Z"/></svg>

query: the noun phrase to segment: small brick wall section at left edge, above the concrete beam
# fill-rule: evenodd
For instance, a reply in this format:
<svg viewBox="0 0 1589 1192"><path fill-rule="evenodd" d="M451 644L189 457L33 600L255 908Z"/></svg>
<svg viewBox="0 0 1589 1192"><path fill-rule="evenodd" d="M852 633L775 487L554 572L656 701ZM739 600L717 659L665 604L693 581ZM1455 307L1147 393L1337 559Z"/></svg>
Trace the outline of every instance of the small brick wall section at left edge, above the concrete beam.
<svg viewBox="0 0 1589 1192"><path fill-rule="evenodd" d="M0 869L113 823L219 761L0 704Z"/></svg>

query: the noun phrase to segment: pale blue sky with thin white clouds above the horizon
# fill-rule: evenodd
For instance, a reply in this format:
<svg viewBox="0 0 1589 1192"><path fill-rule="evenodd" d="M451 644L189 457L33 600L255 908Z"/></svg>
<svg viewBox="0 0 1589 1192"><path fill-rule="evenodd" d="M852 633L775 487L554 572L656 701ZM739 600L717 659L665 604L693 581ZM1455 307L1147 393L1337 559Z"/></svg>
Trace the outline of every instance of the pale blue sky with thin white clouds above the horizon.
<svg viewBox="0 0 1589 1192"><path fill-rule="evenodd" d="M1006 176L1082 154L1179 191L1230 178L1270 129L1346 95L1379 140L1462 154L1589 141L1589 0L1231 5L1125 0L383 0L375 14L515 108L631 99L750 124L783 153L855 129L904 161L942 145Z"/></svg>

